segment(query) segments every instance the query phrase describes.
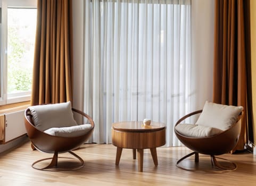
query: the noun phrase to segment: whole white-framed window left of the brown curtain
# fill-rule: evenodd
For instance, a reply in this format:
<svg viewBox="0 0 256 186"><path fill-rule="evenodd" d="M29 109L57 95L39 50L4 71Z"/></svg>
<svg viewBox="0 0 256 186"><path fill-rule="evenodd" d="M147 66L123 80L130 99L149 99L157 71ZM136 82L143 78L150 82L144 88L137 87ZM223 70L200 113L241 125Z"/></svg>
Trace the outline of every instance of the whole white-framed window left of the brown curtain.
<svg viewBox="0 0 256 186"><path fill-rule="evenodd" d="M0 104L30 100L36 0L2 1Z"/></svg>

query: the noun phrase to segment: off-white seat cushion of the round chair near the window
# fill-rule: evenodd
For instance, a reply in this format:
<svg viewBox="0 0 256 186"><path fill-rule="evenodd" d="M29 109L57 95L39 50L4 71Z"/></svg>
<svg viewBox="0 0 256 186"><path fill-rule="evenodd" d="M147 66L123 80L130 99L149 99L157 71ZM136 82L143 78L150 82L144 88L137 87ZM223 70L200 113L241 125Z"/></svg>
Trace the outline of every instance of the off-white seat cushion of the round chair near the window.
<svg viewBox="0 0 256 186"><path fill-rule="evenodd" d="M52 136L76 137L86 134L90 129L92 129L92 125L82 124L62 128L51 128L45 130L44 132Z"/></svg>

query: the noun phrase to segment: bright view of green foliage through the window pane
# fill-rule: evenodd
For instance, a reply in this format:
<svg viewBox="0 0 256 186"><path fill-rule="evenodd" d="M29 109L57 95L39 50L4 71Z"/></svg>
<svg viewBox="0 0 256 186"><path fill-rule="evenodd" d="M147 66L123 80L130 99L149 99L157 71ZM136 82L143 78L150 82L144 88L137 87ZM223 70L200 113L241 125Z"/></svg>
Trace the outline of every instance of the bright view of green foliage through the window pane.
<svg viewBox="0 0 256 186"><path fill-rule="evenodd" d="M34 16L29 14L30 11ZM31 22L35 19L35 13L36 10L32 9L8 9L8 94L31 90L35 43L35 25Z"/></svg>

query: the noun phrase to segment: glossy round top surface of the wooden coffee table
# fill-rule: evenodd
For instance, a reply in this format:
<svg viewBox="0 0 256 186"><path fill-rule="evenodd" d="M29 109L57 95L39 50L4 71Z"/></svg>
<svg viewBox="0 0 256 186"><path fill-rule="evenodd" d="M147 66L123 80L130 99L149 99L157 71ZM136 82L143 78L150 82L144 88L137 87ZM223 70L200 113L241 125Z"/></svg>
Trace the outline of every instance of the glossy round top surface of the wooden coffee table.
<svg viewBox="0 0 256 186"><path fill-rule="evenodd" d="M156 131L166 128L166 125L158 122L151 122L150 125L144 125L143 121L128 121L113 123L112 128L119 131Z"/></svg>

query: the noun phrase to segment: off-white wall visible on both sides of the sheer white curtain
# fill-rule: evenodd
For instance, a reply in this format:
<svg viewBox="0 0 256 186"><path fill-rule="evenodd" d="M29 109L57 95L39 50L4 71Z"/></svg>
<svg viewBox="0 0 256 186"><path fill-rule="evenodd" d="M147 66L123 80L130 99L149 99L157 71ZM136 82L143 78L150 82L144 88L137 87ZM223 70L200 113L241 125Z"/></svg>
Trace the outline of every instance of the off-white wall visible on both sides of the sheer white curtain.
<svg viewBox="0 0 256 186"><path fill-rule="evenodd" d="M84 1L73 1L73 107L83 108ZM212 101L214 0L192 0L192 81L194 109ZM193 88L192 87L192 88Z"/></svg>

